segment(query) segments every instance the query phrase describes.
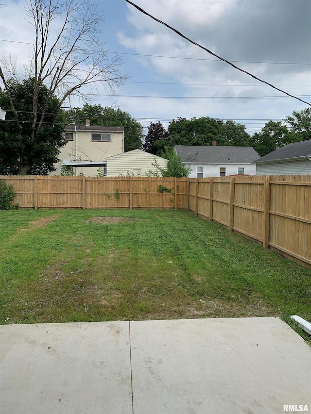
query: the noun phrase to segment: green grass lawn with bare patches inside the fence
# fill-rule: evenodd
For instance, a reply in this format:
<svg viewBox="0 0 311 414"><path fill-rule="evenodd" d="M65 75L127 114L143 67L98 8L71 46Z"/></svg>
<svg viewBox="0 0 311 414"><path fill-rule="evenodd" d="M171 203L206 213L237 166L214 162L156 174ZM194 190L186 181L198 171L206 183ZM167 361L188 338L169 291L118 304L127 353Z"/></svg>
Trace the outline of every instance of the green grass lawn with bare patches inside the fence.
<svg viewBox="0 0 311 414"><path fill-rule="evenodd" d="M310 270L188 211L1 211L0 242L1 324L311 320Z"/></svg>

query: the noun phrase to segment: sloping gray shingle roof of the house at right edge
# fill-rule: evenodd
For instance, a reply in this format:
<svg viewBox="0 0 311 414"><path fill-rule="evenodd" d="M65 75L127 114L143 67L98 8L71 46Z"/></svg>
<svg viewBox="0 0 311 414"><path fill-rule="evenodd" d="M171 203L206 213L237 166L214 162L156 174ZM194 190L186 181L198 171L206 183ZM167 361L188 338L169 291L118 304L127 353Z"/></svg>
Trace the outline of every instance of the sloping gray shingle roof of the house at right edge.
<svg viewBox="0 0 311 414"><path fill-rule="evenodd" d="M256 164L311 156L311 139L293 142L255 160Z"/></svg>

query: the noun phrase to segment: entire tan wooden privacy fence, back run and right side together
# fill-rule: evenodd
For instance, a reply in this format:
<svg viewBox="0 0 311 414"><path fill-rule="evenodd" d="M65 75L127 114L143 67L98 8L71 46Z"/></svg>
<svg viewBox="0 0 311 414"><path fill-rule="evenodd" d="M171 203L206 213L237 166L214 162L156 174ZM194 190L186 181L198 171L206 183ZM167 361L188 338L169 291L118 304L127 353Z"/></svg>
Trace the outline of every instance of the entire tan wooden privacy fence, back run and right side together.
<svg viewBox="0 0 311 414"><path fill-rule="evenodd" d="M189 207L311 268L310 175L0 178L13 185L21 208Z"/></svg>

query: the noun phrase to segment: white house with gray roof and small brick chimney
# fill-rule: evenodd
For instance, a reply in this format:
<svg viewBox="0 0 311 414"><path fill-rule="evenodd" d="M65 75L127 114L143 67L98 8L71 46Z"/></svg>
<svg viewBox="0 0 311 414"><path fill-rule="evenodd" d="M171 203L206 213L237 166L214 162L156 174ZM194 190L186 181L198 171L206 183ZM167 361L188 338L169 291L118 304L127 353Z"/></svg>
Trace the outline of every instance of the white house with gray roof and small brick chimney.
<svg viewBox="0 0 311 414"><path fill-rule="evenodd" d="M256 175L258 153L252 147L218 147L176 145L176 153L190 165L190 178L223 177L225 175Z"/></svg>

